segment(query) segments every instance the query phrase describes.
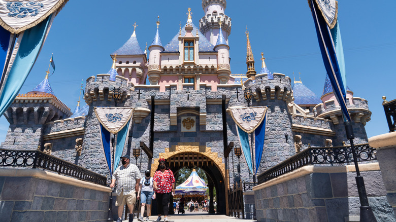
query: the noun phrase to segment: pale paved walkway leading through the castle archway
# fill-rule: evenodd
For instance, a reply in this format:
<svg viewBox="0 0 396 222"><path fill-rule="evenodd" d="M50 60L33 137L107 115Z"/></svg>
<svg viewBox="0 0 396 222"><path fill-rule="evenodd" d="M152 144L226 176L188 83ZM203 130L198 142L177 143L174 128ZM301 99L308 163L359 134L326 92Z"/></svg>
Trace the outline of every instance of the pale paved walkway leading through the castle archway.
<svg viewBox="0 0 396 222"><path fill-rule="evenodd" d="M155 221L158 216L150 216L150 221ZM146 219L146 218L145 218ZM164 217L162 216L162 221ZM168 219L170 222L253 222L256 220L235 218L226 215L208 214L208 213L186 213L186 214L176 214L169 215ZM137 218L134 222L139 221ZM123 220L123 222L128 222L128 220Z"/></svg>

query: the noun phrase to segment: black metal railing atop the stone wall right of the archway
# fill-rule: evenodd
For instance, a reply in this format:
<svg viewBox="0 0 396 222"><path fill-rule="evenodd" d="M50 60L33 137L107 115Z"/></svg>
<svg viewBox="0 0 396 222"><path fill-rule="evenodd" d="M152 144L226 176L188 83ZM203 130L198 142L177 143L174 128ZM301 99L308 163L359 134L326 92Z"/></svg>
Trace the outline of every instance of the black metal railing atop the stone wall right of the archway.
<svg viewBox="0 0 396 222"><path fill-rule="evenodd" d="M368 143L354 145L357 161L377 160L376 150ZM258 184L291 172L300 167L311 164L344 164L353 163L350 146L339 147L309 147L308 149L290 157L269 170L258 175Z"/></svg>

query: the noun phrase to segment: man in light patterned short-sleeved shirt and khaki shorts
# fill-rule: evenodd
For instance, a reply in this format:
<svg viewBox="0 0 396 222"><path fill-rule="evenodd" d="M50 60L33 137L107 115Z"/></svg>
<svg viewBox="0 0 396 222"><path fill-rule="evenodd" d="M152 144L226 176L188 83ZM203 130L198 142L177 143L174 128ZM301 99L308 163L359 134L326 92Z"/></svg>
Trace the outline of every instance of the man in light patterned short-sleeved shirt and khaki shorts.
<svg viewBox="0 0 396 222"><path fill-rule="evenodd" d="M139 183L142 178L139 168L129 163L129 155L124 155L121 158L122 165L117 167L111 178L110 188L114 188L115 182L117 181L116 193L117 200L116 206L118 206L118 219L117 222L121 222L122 212L124 211L125 203L129 208L129 222L134 220L134 206L136 203L136 193L139 191ZM126 212L125 212L126 213Z"/></svg>

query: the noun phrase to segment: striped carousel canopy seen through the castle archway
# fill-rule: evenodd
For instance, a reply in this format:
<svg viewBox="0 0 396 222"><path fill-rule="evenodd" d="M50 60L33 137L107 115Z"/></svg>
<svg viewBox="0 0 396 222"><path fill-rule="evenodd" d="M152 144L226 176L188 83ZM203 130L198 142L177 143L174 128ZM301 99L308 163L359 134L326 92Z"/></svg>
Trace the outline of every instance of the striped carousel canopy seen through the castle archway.
<svg viewBox="0 0 396 222"><path fill-rule="evenodd" d="M190 176L182 184L176 187L176 196L180 197L184 194L187 196L206 196L205 181L196 173L195 169L192 169Z"/></svg>

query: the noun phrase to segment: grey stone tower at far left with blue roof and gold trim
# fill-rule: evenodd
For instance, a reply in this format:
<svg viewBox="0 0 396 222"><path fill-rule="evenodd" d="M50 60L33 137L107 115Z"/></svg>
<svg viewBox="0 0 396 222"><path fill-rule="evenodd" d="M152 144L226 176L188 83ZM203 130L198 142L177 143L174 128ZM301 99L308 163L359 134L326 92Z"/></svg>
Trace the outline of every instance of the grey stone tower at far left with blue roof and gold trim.
<svg viewBox="0 0 396 222"><path fill-rule="evenodd" d="M54 95L48 74L49 70L32 91L16 96L4 113L10 127L3 149L43 150L47 124L72 115L70 108Z"/></svg>

